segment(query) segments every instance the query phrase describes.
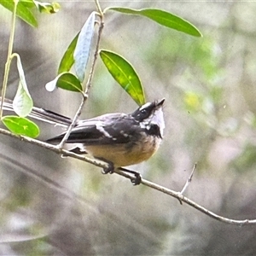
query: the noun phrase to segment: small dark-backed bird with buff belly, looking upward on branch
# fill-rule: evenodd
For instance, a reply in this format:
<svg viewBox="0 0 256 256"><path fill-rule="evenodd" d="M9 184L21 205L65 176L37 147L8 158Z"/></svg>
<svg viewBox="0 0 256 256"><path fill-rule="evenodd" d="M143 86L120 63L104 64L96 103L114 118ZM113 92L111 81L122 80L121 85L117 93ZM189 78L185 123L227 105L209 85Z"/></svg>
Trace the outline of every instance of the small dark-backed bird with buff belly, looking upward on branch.
<svg viewBox="0 0 256 256"><path fill-rule="evenodd" d="M103 173L112 173L118 168L135 175L131 179L132 183L141 183L142 177L138 172L124 167L148 160L160 147L165 129L164 102L165 99L147 102L132 113L106 113L92 119L78 120L66 144L75 145L70 149L73 153L90 154L107 162L108 167L103 169ZM6 104L4 106L6 109ZM72 119L44 108L34 107L29 116L64 127L72 123ZM51 137L46 142L61 143L66 132Z"/></svg>

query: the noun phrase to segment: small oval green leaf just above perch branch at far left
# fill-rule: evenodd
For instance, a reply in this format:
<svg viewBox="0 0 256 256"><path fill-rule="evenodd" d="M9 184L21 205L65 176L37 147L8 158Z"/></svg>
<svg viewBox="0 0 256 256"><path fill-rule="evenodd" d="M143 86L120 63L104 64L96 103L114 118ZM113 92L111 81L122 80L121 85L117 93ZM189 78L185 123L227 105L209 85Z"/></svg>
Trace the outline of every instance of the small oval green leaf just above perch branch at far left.
<svg viewBox="0 0 256 256"><path fill-rule="evenodd" d="M14 115L7 115L3 117L2 121L3 125L15 134L33 138L38 137L39 135L40 131L38 125L29 119Z"/></svg>

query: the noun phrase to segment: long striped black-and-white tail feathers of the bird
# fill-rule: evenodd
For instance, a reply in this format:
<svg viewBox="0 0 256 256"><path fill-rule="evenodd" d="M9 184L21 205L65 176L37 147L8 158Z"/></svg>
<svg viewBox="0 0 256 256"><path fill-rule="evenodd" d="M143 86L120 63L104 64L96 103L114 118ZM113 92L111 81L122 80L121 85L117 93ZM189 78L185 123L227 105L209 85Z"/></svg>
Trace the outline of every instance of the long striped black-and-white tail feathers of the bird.
<svg viewBox="0 0 256 256"><path fill-rule="evenodd" d="M2 98L0 97L0 102ZM3 102L3 110L9 111L9 112L15 112L13 108L13 101L9 99L4 99ZM58 125L62 127L66 127L72 123L72 119L63 116L59 113L52 112L50 110L46 110L44 108L37 108L33 107L32 112L28 114L28 117L32 119L38 119L40 121L52 124L52 125Z"/></svg>

